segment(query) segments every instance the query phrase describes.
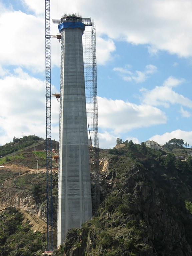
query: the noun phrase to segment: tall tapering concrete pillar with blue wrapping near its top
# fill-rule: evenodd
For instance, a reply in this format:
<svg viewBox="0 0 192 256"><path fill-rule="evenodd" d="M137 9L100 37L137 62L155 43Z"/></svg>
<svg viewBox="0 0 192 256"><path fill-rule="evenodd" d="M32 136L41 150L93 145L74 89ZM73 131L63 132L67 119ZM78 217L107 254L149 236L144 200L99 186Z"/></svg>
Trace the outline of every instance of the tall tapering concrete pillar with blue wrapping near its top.
<svg viewBox="0 0 192 256"><path fill-rule="evenodd" d="M85 23L65 15L61 33L57 246L67 230L92 216L82 34Z"/></svg>

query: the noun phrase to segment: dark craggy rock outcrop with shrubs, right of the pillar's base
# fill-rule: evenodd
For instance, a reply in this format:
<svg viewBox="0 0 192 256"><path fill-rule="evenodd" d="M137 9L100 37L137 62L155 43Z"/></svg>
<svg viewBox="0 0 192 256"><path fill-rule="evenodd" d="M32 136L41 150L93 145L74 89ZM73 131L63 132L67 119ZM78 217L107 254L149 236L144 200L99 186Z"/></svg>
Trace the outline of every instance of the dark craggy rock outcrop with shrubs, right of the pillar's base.
<svg viewBox="0 0 192 256"><path fill-rule="evenodd" d="M65 240L64 255L191 256L192 217L185 199L192 192L183 175L165 175L154 159L133 164L114 157L102 162L105 200L75 240Z"/></svg>

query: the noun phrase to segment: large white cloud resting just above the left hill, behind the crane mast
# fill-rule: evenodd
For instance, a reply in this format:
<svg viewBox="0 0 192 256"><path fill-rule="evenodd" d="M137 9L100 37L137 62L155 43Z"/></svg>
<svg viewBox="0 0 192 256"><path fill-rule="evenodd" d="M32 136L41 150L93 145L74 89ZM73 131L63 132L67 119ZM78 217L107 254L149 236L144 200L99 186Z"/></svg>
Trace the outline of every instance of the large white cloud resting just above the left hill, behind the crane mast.
<svg viewBox="0 0 192 256"><path fill-rule="evenodd" d="M45 138L45 81L31 77L17 68L13 75L0 79L0 83L0 144L11 141L14 136L20 138L22 134L35 133ZM59 118L59 108L54 100L53 126Z"/></svg>

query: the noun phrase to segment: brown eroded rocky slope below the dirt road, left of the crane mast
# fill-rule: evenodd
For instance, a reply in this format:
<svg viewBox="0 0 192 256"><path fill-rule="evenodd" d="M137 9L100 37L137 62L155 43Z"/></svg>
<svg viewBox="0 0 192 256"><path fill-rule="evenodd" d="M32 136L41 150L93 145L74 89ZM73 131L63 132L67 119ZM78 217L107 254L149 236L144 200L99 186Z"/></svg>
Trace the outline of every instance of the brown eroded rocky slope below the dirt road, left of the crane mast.
<svg viewBox="0 0 192 256"><path fill-rule="evenodd" d="M21 167L19 175L18 167L10 166L1 169L1 174L5 178L0 186L0 209L19 208L46 221L46 170Z"/></svg>

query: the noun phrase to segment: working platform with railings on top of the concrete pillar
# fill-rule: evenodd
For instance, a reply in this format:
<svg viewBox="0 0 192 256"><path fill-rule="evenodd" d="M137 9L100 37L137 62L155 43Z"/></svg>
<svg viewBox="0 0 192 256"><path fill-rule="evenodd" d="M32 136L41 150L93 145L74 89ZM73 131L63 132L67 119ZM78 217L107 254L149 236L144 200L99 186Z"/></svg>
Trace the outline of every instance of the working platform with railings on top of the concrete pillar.
<svg viewBox="0 0 192 256"><path fill-rule="evenodd" d="M53 19L53 24L61 24L63 22L81 22L85 26L93 25L90 18L82 18L80 16L76 16L76 14L71 14L71 15L65 14L60 19Z"/></svg>

